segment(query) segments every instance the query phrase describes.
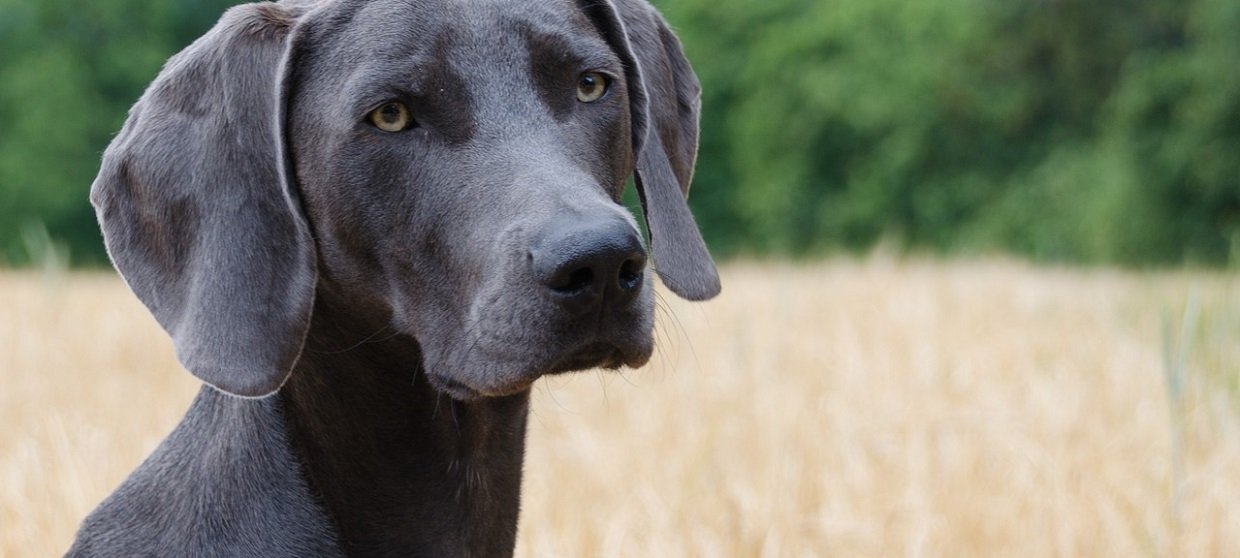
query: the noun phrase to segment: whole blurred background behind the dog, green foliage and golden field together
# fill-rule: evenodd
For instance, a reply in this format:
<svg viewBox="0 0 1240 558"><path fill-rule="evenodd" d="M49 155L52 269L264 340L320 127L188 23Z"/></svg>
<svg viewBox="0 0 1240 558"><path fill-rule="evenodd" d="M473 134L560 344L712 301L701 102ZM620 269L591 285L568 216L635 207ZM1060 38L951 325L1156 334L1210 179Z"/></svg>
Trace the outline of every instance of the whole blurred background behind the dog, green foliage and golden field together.
<svg viewBox="0 0 1240 558"><path fill-rule="evenodd" d="M653 0L720 260L536 387L520 556L1240 556L1240 2ZM227 0L0 0L0 558L197 382L87 192Z"/></svg>

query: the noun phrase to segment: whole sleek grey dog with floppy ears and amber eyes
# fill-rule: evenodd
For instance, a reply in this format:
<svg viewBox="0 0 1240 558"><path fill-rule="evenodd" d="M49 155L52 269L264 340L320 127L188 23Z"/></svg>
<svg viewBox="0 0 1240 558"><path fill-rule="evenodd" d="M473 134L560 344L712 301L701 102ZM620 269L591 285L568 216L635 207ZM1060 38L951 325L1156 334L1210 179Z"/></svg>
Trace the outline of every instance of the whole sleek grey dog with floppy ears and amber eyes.
<svg viewBox="0 0 1240 558"><path fill-rule="evenodd" d="M91 193L208 386L69 556L510 556L531 383L651 356L630 175L662 281L719 291L698 99L644 0L229 10Z"/></svg>

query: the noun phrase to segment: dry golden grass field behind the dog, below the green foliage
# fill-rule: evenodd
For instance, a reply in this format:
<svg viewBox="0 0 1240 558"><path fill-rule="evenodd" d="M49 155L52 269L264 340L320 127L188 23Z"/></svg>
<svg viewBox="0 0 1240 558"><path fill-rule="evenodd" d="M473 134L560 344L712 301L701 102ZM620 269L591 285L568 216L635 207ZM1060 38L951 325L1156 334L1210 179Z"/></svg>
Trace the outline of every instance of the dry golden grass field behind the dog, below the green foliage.
<svg viewBox="0 0 1240 558"><path fill-rule="evenodd" d="M1240 556L1234 274L724 272L651 366L536 388L520 556ZM0 556L58 554L196 383L104 275L0 275Z"/></svg>

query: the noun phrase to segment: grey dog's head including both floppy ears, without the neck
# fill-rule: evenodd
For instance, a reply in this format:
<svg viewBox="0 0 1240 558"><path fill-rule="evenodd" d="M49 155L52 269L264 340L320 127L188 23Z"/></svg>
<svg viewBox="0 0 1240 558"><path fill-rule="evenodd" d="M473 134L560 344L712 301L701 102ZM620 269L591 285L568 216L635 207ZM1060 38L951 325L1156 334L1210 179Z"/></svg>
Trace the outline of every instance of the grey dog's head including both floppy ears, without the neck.
<svg viewBox="0 0 1240 558"><path fill-rule="evenodd" d="M222 391L279 388L317 286L415 339L438 388L500 396L650 358L632 174L660 278L718 293L684 203L697 123L697 78L644 0L252 4L169 61L92 201L181 362Z"/></svg>

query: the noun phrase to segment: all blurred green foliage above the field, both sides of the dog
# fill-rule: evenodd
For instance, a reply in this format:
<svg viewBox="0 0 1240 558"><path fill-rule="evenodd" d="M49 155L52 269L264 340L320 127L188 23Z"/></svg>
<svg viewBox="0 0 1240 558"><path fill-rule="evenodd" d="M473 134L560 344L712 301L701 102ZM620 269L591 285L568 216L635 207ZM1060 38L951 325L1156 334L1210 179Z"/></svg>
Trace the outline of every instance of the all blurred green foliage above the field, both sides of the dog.
<svg viewBox="0 0 1240 558"><path fill-rule="evenodd" d="M86 192L219 0L0 0L0 259L103 259ZM1235 0L658 0L704 86L719 254L878 242L1240 263Z"/></svg>

